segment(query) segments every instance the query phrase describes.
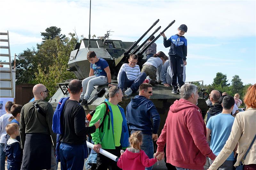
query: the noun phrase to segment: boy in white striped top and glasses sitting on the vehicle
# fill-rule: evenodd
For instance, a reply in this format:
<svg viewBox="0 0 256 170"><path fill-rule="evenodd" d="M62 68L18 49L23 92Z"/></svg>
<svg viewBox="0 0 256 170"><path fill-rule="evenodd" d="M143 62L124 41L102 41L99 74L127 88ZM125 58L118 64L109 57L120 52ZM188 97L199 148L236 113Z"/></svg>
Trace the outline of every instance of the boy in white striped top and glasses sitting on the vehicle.
<svg viewBox="0 0 256 170"><path fill-rule="evenodd" d="M129 63L124 63L117 75L118 87L124 90L125 96L130 96L132 92L137 92L140 85L147 77L146 73L140 73L140 66L137 65L138 56L135 54L130 55Z"/></svg>

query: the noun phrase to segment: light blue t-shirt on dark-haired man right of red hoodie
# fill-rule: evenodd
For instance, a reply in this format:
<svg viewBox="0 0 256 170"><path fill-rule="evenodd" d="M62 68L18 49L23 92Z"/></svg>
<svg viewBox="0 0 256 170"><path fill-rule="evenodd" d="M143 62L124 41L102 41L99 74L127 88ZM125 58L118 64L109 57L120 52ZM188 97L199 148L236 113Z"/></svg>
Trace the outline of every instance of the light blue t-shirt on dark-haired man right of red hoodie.
<svg viewBox="0 0 256 170"><path fill-rule="evenodd" d="M210 117L206 124L206 128L211 129L211 145L210 148L215 155L219 155L221 149L226 144L231 132L235 118L230 114L220 113ZM234 160L232 152L227 160Z"/></svg>

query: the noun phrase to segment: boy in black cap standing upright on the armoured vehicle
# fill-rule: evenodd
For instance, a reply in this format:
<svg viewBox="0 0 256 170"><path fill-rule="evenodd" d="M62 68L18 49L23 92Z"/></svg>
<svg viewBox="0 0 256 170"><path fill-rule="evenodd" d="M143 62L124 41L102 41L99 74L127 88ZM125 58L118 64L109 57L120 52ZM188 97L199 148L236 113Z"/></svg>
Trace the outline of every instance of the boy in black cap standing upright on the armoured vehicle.
<svg viewBox="0 0 256 170"><path fill-rule="evenodd" d="M188 30L185 24L182 24L178 28L178 33L172 35L168 40L165 34L161 34L164 37L164 47L171 47L169 50L169 61L172 69L172 94L177 94L178 85L179 87L184 85L183 82L183 66L187 65L187 39L183 36Z"/></svg>

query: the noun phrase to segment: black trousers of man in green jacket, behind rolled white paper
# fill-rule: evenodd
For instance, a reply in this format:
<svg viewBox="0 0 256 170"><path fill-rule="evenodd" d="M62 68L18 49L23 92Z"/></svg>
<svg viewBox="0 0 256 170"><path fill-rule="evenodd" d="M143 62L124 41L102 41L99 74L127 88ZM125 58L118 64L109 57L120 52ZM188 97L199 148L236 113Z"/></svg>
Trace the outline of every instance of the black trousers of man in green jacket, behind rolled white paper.
<svg viewBox="0 0 256 170"><path fill-rule="evenodd" d="M116 149L104 149L105 151L112 153L113 155L116 155L118 158L120 158L121 153L120 150L122 149L121 146L116 147ZM98 153L97 154L97 170L121 170L117 166L117 162L109 159L108 157Z"/></svg>

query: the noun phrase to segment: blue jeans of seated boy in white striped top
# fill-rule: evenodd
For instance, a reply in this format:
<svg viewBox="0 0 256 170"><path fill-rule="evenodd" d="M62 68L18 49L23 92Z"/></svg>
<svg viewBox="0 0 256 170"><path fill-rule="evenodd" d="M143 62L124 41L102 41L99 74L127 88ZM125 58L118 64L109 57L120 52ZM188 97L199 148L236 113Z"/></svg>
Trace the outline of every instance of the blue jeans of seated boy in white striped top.
<svg viewBox="0 0 256 170"><path fill-rule="evenodd" d="M120 87L122 91L124 90L124 88L130 87L132 89L132 92L137 92L146 77L146 73L142 72L135 80L129 80L127 78L126 72L121 71L118 77L118 87Z"/></svg>

